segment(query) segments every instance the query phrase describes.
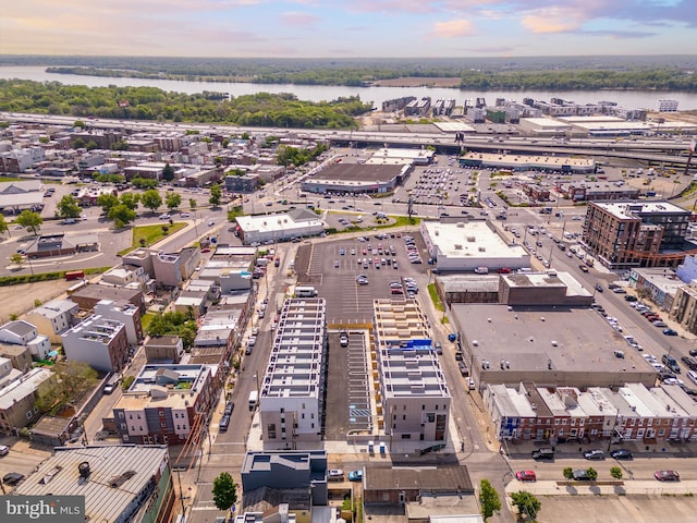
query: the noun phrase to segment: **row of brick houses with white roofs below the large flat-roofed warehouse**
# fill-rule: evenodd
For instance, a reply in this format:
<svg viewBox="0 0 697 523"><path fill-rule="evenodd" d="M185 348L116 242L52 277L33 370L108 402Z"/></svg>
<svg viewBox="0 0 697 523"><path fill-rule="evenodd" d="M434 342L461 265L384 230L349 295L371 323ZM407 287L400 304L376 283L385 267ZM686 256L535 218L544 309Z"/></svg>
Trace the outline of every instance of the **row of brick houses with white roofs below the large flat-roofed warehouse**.
<svg viewBox="0 0 697 523"><path fill-rule="evenodd" d="M518 388L489 385L484 402L499 440L565 441L695 441L697 403L680 387L648 389L625 384L616 391L590 387L547 389L534 384Z"/></svg>

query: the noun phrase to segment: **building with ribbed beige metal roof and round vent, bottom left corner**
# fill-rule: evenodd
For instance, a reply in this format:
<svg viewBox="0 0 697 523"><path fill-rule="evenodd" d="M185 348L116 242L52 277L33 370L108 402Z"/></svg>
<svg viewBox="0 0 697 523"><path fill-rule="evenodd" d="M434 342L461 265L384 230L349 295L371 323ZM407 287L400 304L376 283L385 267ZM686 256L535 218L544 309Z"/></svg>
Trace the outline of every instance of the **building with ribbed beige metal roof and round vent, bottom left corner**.
<svg viewBox="0 0 697 523"><path fill-rule="evenodd" d="M170 521L176 498L167 447L59 447L20 496L84 496L85 521Z"/></svg>

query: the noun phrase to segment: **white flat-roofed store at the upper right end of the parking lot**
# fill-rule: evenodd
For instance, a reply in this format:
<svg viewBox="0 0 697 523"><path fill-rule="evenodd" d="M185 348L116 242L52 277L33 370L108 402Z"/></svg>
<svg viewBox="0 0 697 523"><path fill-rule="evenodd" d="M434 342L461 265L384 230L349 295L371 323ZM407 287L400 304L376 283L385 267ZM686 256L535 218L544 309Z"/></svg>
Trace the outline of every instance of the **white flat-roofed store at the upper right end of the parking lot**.
<svg viewBox="0 0 697 523"><path fill-rule="evenodd" d="M521 269L530 266L522 245L509 244L489 221L421 221L421 235L435 267L441 271L472 271L487 267Z"/></svg>

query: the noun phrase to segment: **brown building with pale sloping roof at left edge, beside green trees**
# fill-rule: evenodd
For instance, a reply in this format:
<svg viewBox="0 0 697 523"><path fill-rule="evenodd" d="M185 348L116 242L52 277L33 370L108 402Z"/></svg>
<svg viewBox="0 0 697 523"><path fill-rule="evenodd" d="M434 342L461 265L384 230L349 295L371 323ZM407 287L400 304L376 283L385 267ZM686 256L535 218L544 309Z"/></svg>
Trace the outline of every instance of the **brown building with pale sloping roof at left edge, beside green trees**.
<svg viewBox="0 0 697 523"><path fill-rule="evenodd" d="M33 368L0 389L0 431L14 434L19 428L35 423L41 412L35 405L36 391L53 372L46 367Z"/></svg>

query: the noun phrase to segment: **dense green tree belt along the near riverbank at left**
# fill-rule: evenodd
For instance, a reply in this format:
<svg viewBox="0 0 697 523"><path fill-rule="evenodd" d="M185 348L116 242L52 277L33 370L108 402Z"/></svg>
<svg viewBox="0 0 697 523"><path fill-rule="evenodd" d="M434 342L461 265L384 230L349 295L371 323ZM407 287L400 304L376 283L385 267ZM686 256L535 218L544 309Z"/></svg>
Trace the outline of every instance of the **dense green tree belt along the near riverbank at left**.
<svg viewBox="0 0 697 523"><path fill-rule="evenodd" d="M294 129L356 129L372 109L357 96L304 101L290 93L210 99L156 87L86 87L59 82L0 80L0 111Z"/></svg>

